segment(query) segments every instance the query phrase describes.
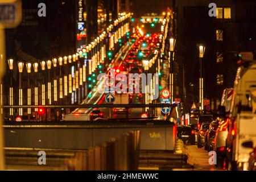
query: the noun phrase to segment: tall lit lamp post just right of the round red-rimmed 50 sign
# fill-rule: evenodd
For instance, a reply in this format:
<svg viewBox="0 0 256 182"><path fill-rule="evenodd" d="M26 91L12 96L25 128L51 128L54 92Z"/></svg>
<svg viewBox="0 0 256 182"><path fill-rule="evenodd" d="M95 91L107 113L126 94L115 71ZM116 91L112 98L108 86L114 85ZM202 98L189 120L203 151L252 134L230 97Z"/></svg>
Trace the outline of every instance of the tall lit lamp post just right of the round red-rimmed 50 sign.
<svg viewBox="0 0 256 182"><path fill-rule="evenodd" d="M170 71L170 98L171 104L174 101L174 48L176 39L170 38L170 51L169 51L169 71Z"/></svg>

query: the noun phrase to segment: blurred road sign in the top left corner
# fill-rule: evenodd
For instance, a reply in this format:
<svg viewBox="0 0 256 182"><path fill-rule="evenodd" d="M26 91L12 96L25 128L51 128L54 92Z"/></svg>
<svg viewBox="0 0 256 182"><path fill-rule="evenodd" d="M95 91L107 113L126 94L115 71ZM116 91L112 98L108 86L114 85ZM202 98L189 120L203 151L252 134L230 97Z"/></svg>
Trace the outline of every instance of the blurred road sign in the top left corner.
<svg viewBox="0 0 256 182"><path fill-rule="evenodd" d="M0 24L5 28L15 28L22 20L22 4L20 0L0 1Z"/></svg>

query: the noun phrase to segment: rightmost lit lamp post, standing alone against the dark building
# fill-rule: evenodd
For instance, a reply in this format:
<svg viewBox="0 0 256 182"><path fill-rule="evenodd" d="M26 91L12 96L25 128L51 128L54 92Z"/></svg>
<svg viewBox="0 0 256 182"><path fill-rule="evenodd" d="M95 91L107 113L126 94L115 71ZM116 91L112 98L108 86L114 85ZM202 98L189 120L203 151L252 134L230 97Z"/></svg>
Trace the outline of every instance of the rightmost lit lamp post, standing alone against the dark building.
<svg viewBox="0 0 256 182"><path fill-rule="evenodd" d="M203 100L204 100L204 78L203 78L203 68L202 60L204 57L205 46L199 46L199 64L200 64L200 77L199 77L199 101L200 101L200 110L204 109Z"/></svg>

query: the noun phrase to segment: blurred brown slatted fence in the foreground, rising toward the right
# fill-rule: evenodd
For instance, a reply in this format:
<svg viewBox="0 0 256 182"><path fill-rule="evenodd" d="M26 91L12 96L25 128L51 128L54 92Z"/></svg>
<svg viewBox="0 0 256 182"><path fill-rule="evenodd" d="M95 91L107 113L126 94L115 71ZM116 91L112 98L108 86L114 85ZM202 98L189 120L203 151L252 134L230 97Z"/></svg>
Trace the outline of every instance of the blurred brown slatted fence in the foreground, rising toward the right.
<svg viewBox="0 0 256 182"><path fill-rule="evenodd" d="M9 169L51 169L75 171L137 170L141 132L130 131L88 150L6 148ZM46 152L45 165L38 164L38 151ZM15 167L16 168L15 168Z"/></svg>

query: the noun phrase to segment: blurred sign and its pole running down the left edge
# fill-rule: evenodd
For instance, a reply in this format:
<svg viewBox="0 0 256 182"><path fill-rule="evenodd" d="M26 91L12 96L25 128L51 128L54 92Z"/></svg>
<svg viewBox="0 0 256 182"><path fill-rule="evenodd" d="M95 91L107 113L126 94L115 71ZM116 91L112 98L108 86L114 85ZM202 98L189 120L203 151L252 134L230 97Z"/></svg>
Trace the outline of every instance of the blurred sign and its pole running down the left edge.
<svg viewBox="0 0 256 182"><path fill-rule="evenodd" d="M0 84L5 74L5 28L14 28L22 20L22 3L20 0L0 1ZM5 170L5 155L3 153L3 127L0 112L0 170Z"/></svg>

